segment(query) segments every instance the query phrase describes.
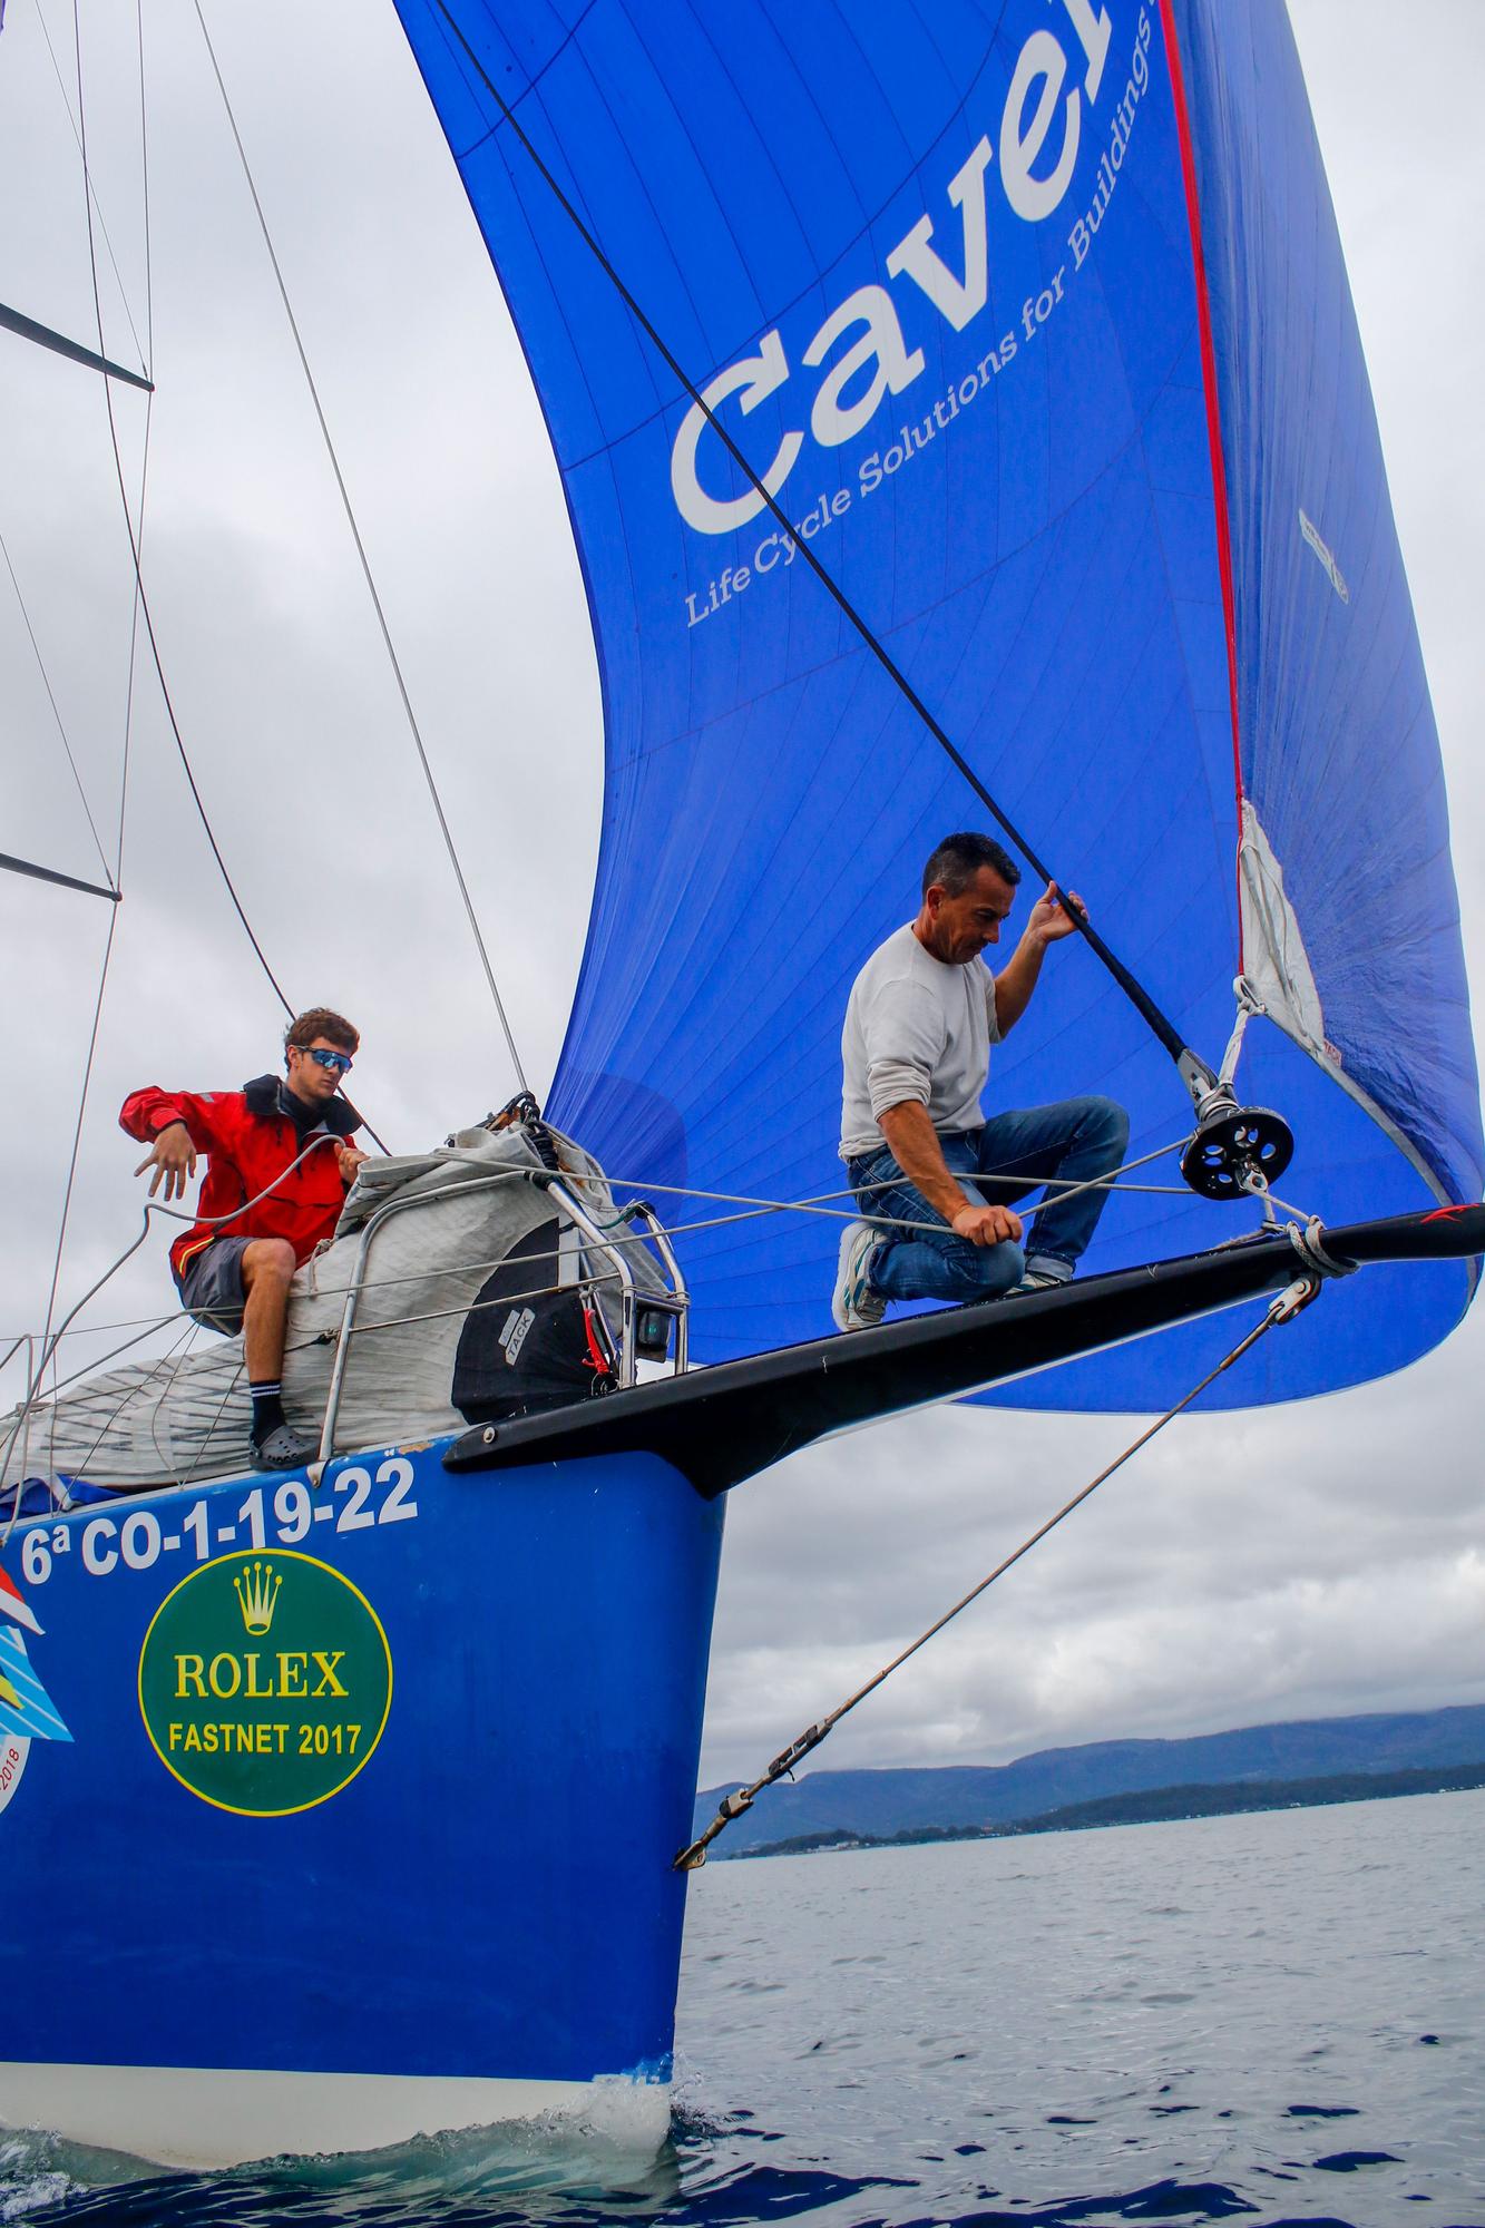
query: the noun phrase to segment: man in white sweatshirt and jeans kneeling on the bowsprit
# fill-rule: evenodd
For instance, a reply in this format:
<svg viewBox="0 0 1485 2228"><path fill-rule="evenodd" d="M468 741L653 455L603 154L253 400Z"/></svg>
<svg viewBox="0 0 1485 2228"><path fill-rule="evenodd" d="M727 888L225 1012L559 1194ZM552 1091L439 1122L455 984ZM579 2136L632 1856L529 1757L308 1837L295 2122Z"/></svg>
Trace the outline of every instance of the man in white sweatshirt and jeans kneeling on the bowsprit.
<svg viewBox="0 0 1485 2228"><path fill-rule="evenodd" d="M919 918L865 962L845 1007L841 1159L872 1221L850 1223L832 1315L881 1323L890 1299L999 1299L1066 1283L1128 1145L1113 1098L1064 1098L986 1121L990 1045L1021 1018L1048 949L1077 925L1048 887L1006 967L999 942L1021 869L990 836L945 836ZM1077 891L1068 902L1081 911ZM994 1179L994 1181L986 1181ZM1052 1183L1021 1248L1015 1201ZM1072 1185L1093 1183L1064 1199ZM981 1190L983 1185L983 1190ZM916 1228L903 1228L916 1225Z"/></svg>

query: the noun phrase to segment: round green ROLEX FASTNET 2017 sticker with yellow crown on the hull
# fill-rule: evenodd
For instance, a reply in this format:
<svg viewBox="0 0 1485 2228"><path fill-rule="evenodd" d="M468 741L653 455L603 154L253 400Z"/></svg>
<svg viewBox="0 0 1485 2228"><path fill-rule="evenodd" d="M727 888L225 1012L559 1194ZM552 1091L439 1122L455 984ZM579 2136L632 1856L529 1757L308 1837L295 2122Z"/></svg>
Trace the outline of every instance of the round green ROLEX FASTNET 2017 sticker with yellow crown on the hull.
<svg viewBox="0 0 1485 2228"><path fill-rule="evenodd" d="M292 1548L183 1577L138 1653L138 1707L183 1787L288 1818L355 1780L392 1707L392 1651L359 1586Z"/></svg>

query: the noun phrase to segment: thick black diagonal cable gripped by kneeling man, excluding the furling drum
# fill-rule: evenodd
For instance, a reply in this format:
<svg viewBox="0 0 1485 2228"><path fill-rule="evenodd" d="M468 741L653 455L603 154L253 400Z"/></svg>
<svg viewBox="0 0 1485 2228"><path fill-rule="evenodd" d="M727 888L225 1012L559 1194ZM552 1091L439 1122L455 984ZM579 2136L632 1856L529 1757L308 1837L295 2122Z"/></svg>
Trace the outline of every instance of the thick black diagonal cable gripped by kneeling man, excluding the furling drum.
<svg viewBox="0 0 1485 2228"><path fill-rule="evenodd" d="M1032 867L1035 873L1039 873L1046 882L1050 882L1057 889L1061 889L1061 885L1057 885L1057 878L1052 876L1050 867L1044 864L1044 860L1032 851L1032 847L1026 840L1026 836L1021 836L1021 831L1015 827L1015 822L1008 818L1008 813L994 802L994 798L990 795L990 791L986 789L986 784L979 780L979 775L970 766L968 758L950 742L948 731L932 715L932 711L928 709L928 704L923 702L923 697L919 695L919 691L912 686L912 682L908 680L908 675L903 673L903 668L896 664L896 659L892 657L892 653L887 651L887 646L881 642L881 637L874 633L874 628L867 624L867 619L856 610L856 606L852 604L852 599L845 595L845 588L841 588L841 584L834 579L834 575L829 573L829 568L821 561L821 557L816 557L812 544L805 541L803 535L796 535L794 524L789 521L789 515L785 512L783 504L774 495L769 495L769 490L765 488L763 479L758 477L758 472L754 472L751 463L747 461L747 457L742 455L742 450L738 448L738 443L734 441L734 437L727 432L727 428L722 426L722 421L718 419L718 414L711 410L711 405L707 403L707 399L700 392L700 388L696 388L691 383L691 379L682 370L678 356L667 348L667 343L662 341L658 328L649 321L649 316L644 314L644 310L640 307L640 303L635 301L635 296L629 292L629 287L620 278L618 270L613 267L613 263L609 261L609 256L604 254L604 250L600 247L600 243L593 236L593 232L589 232L589 227L582 221L582 216L578 214L575 205L562 192L557 178L553 176L553 172L546 167L546 163L537 154L537 149L531 143L526 129L522 127L520 118L511 109L511 102L504 98L504 94L499 91L499 87L493 82L491 74L486 71L484 62L479 60L479 56L470 47L470 42L464 36L462 27L455 22L455 18L453 18L453 13L448 9L448 0L435 0L435 4L439 9L439 13L444 16L444 20L448 22L448 27L455 33L455 38L459 40L459 47L468 56L470 67L475 69L479 82L486 87L486 91L491 94L491 98L497 102L504 120L511 125L513 134L517 136L517 140L526 149L526 154L531 156L531 163L535 165L535 169L540 172L542 180L546 183L546 187L551 189L551 194L555 196L555 201L560 203L562 212L571 218L571 223L578 229L580 238L584 241L584 245L595 256L600 270L611 281L611 285L618 292L620 301L624 303L624 307L629 310L629 314L635 319L635 323L642 328L642 332L649 336L649 341L653 343L653 348L660 352L660 356L664 359L667 368L680 381L680 385L685 388L685 392L691 397L691 403L702 412L702 417L707 419L707 423L711 426L711 430L718 434L718 439L727 448L727 452L734 459L734 463L738 466L738 470L747 477L747 481L754 488L754 492L763 499L763 504L769 508L769 512L774 515L774 519L785 528L785 532L794 541L798 555L805 559L805 564L814 573L814 577L821 582L821 586L825 588L825 593L832 597L832 602L836 604L836 608L841 610L841 615L856 631L856 635L861 637L861 642L865 644L865 648L872 653L872 657L876 657L876 662L883 668L883 673L887 675L887 680L901 691L901 695L905 697L905 702L919 715L919 720L923 722L923 726L928 729L928 733L932 735L932 740L939 744L939 749L948 755L948 760L952 762L952 766L970 784L970 789L974 791L974 795L979 798L979 802L986 807L986 811L990 813L990 818L994 820L994 824L1001 829L1001 833L1006 833L1012 840L1012 844L1026 858L1026 862ZM1124 991L1124 996L1130 1000L1130 1005L1135 1007L1135 1012L1148 1025L1148 1029L1159 1038L1159 1043L1166 1047L1166 1052L1171 1054L1171 1058L1180 1067L1182 1081L1191 1089L1193 1098L1200 1098L1209 1089L1213 1089L1213 1085L1217 1081L1215 1074L1213 1074L1213 1069L1206 1065L1206 1061L1202 1061L1186 1045L1186 1040L1182 1038L1182 1034L1175 1027L1175 1023L1155 1005L1155 1000L1148 994L1148 989L1144 987L1144 983L1139 983L1139 978L1130 974L1130 969L1124 965L1124 960L1104 942L1104 938L1097 934L1097 929L1088 922L1088 918L1084 913L1079 913L1077 909L1068 907L1068 916L1075 922L1079 936L1097 954L1097 958L1104 962L1104 967L1108 969L1108 974L1115 978L1115 983L1119 985L1119 989Z"/></svg>

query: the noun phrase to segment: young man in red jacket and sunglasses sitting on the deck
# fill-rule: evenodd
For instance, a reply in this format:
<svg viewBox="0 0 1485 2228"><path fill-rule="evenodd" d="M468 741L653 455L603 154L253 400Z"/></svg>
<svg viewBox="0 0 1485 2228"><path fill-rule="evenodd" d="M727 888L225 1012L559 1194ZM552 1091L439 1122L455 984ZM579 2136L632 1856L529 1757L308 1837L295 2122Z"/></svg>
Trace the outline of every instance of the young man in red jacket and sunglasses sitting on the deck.
<svg viewBox="0 0 1485 2228"><path fill-rule="evenodd" d="M334 1230L366 1159L350 1139L361 1116L339 1096L361 1038L317 1005L283 1036L288 1074L256 1076L241 1092L163 1092L123 1103L123 1130L154 1150L134 1170L149 1196L185 1199L205 1152L194 1230L169 1248L181 1306L207 1330L243 1332L252 1388L252 1459L259 1470L312 1462L319 1442L283 1415L279 1372L290 1279ZM241 1210L241 1212L239 1212Z"/></svg>

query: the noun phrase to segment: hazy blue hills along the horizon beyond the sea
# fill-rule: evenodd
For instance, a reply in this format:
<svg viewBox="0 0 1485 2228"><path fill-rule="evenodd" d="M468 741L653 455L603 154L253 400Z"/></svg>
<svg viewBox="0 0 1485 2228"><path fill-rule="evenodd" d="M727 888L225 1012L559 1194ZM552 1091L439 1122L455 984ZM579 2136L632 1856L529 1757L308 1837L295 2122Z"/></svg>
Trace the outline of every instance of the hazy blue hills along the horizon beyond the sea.
<svg viewBox="0 0 1485 2228"><path fill-rule="evenodd" d="M921 1827L1012 1825L1041 1820L1068 1805L1155 1789L1452 1771L1463 1765L1485 1765L1485 1704L1251 1724L1191 1740L1095 1740L1079 1749L1041 1749L1015 1765L809 1771L796 1785L765 1789L751 1811L727 1827L714 1856L740 1856L763 1843L800 1836L887 1840ZM698 1794L698 1831L738 1785L731 1780Z"/></svg>

